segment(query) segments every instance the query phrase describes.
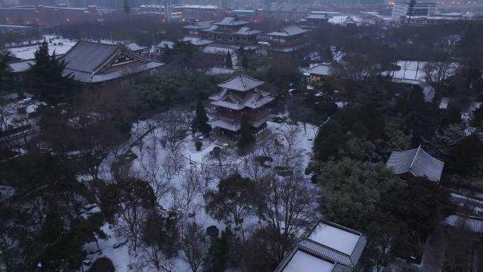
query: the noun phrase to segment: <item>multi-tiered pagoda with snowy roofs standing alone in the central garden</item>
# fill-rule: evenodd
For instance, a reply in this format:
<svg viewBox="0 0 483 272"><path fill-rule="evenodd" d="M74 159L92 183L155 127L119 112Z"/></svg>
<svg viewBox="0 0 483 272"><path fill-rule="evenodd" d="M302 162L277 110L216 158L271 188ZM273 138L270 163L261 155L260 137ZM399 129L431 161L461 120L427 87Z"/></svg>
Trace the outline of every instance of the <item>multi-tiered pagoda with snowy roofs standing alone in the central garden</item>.
<svg viewBox="0 0 483 272"><path fill-rule="evenodd" d="M220 93L210 96L211 105L215 107L215 116L209 124L215 129L217 138L230 143L236 143L241 127L241 114L247 114L252 133L256 140L270 134L267 121L272 118L268 104L275 97L258 90L263 81L237 74L228 81L217 86Z"/></svg>

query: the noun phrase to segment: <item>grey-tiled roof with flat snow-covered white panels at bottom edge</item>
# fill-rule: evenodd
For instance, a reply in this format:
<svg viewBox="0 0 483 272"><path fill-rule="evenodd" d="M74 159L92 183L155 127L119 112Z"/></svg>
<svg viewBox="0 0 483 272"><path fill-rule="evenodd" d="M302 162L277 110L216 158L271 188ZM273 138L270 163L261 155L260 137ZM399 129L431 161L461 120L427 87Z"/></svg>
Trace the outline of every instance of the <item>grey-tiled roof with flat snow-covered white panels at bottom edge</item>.
<svg viewBox="0 0 483 272"><path fill-rule="evenodd" d="M327 220L318 220L275 271L311 271L311 266L314 266L321 271L350 272L357 266L366 243L366 235L361 232Z"/></svg>

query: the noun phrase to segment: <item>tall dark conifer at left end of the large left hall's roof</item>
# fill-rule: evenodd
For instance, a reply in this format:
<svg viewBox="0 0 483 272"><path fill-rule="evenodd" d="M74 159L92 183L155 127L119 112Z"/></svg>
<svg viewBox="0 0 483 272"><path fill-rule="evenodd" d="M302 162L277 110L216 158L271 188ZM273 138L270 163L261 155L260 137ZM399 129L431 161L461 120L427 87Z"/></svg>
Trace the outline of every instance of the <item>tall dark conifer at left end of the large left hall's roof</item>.
<svg viewBox="0 0 483 272"><path fill-rule="evenodd" d="M35 89L40 100L48 105L57 105L68 97L73 87L73 76L63 76L66 62L59 60L55 52L49 55L49 46L43 42L34 54L34 64L30 64L30 73L35 82Z"/></svg>

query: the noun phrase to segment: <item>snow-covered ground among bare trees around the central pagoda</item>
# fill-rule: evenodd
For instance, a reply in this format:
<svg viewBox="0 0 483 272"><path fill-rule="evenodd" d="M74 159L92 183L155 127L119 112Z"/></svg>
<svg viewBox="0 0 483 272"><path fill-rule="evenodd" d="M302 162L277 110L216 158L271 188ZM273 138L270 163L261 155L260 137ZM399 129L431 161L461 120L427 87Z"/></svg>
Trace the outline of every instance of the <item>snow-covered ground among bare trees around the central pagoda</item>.
<svg viewBox="0 0 483 272"><path fill-rule="evenodd" d="M291 125L287 123L278 124L275 122L268 122L268 128L277 138L282 138L279 136L287 133L289 129L295 128L298 131L294 143L296 146L295 148L300 150L303 154L302 167L305 168L309 163L311 148L316 136L317 126L311 124L304 125L302 123L292 123ZM193 168L200 170L201 167L205 167L206 165L213 163L213 159L211 159L212 155L210 155L210 152L215 147L213 141L208 138L194 136L190 133L187 133L186 137L179 146L182 167L179 172L176 172L171 176L169 174L173 174L173 172L169 173L169 169L165 169L165 162L171 158L170 156L172 156L172 152L168 147L163 148L160 143L160 139L165 136L165 132L160 127L156 128L153 126L152 120L145 120L143 122L138 122L138 124L134 126L132 135L133 136L129 139L129 141L120 147L123 153L130 151L137 156L137 158L131 163L131 173L145 179L150 178L159 181L165 181L167 178L170 179L169 187L171 187L171 189L165 192L165 194L163 194L159 199L160 205L167 210L174 208L175 211L179 211L179 213L184 213L185 215L191 214L191 216L194 216L193 220L205 228L210 225L215 225L220 230L224 229L224 223L214 220L210 217L210 215L205 213L205 203L203 194L201 194L201 192L189 204L182 201L182 196L184 194L183 182L190 170L193 170ZM143 136L143 138L139 139L140 136ZM196 141L201 141L203 143L203 146L199 151L197 151L196 147L194 146ZM223 163L226 163L227 165L234 165L233 167L236 167L237 170L241 172L241 175L244 175L243 165L246 165L246 163L244 163L245 160L243 157L237 155L237 152L234 150L234 148L222 148L222 155L225 157ZM110 165L114 160L114 155L109 155L105 160L104 165L102 165L102 169L104 170L103 172L105 174L103 176L104 178L112 178L112 176L109 174L109 171ZM153 174L156 177L150 176L150 174ZM210 184L208 184L207 187L203 189L213 189L216 187L220 177L217 177L217 175L211 176L213 176L213 180L210 182ZM309 182L307 182L307 184L308 186L311 186ZM203 187L204 186L205 184L203 184ZM250 228L257 223L258 218L256 216L244 218L243 228L245 232L249 232ZM98 241L100 248L102 249L102 254L95 253L90 255L89 258L91 261L94 261L100 256L106 256L113 261L117 272L133 271L133 264L136 263L136 256L133 254L133 252L129 252L129 243L114 249L114 244L121 244L125 241L125 239L117 237L116 232L111 225L106 224L103 227L103 230L107 233L109 239L107 241ZM97 245L95 242L86 244L85 249L88 252L94 252L97 250ZM175 258L171 261L173 271L191 271L189 266L180 258ZM85 269L87 268L88 267L85 266ZM154 270L146 269L145 271Z"/></svg>

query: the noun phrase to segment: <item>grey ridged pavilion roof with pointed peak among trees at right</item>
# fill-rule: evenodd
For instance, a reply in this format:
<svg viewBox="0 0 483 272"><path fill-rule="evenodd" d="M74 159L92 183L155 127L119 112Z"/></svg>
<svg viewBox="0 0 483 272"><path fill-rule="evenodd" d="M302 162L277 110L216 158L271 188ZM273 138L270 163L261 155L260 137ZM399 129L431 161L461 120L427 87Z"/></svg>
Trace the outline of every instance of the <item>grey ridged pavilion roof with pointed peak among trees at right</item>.
<svg viewBox="0 0 483 272"><path fill-rule="evenodd" d="M429 180L439 182L444 162L431 157L419 146L412 150L394 151L386 166L392 168L397 175L410 172L415 177L426 176Z"/></svg>

